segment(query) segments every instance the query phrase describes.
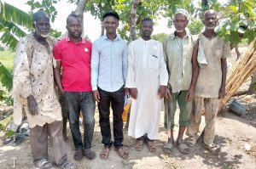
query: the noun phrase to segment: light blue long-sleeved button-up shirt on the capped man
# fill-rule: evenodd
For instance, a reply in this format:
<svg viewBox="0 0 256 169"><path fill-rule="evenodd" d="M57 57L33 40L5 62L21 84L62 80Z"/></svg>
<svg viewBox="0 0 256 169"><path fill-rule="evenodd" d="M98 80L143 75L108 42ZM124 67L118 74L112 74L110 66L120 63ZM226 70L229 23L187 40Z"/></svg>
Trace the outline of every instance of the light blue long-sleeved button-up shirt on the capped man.
<svg viewBox="0 0 256 169"><path fill-rule="evenodd" d="M107 36L97 39L92 45L91 87L115 92L125 84L127 75L127 44L119 36L113 41Z"/></svg>

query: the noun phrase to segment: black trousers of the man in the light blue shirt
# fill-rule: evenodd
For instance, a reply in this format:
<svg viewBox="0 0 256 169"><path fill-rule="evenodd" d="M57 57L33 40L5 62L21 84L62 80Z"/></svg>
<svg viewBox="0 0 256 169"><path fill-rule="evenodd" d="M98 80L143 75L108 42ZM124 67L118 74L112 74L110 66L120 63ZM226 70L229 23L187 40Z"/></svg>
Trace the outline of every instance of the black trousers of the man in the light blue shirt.
<svg viewBox="0 0 256 169"><path fill-rule="evenodd" d="M112 144L115 147L123 146L123 119L122 113L125 104L125 89L121 87L116 92L107 92L98 87L100 93L100 102L98 103L100 113L100 127L102 131L102 144L111 147ZM113 139L111 141L110 131L110 104L113 110Z"/></svg>

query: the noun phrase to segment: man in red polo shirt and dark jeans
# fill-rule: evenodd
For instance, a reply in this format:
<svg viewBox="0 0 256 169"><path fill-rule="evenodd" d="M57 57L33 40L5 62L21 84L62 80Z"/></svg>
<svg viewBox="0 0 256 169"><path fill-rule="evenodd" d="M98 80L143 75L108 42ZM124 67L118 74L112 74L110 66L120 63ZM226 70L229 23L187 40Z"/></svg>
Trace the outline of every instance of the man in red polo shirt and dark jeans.
<svg viewBox="0 0 256 169"><path fill-rule="evenodd" d="M68 110L68 120L75 146L74 160L81 161L83 155L90 160L96 158L91 151L94 132L95 101L90 85L91 42L81 37L82 27L79 16L70 14L67 17L68 36L57 42L53 50L57 66L55 82L64 95ZM61 81L62 67L62 81ZM79 131L79 112L83 114L84 144Z"/></svg>

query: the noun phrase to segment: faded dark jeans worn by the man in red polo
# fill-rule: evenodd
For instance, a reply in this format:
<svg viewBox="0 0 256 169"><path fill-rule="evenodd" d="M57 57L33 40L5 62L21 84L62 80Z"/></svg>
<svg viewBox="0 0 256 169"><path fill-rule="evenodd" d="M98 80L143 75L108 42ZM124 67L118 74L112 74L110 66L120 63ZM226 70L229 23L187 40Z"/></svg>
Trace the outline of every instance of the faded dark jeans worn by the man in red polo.
<svg viewBox="0 0 256 169"><path fill-rule="evenodd" d="M68 110L69 126L75 149L90 149L94 132L95 101L92 92L65 92L65 104ZM84 144L79 130L80 110L83 115Z"/></svg>

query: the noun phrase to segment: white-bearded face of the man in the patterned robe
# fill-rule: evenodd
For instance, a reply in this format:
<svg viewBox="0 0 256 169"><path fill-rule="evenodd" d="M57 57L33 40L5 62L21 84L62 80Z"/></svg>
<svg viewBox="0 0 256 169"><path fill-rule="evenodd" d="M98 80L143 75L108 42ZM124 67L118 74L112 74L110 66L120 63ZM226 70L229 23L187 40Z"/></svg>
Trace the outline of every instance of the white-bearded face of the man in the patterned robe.
<svg viewBox="0 0 256 169"><path fill-rule="evenodd" d="M49 20L42 18L34 23L36 33L41 37L49 37Z"/></svg>

